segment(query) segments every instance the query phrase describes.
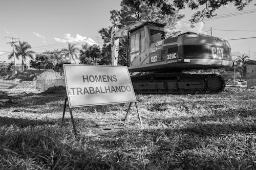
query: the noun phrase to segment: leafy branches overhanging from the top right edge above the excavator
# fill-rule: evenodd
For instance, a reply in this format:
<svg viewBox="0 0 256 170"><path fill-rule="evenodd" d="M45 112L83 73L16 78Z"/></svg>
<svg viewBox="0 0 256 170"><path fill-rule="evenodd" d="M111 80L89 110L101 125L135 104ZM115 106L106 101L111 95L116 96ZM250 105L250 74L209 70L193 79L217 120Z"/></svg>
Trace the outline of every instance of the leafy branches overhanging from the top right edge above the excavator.
<svg viewBox="0 0 256 170"><path fill-rule="evenodd" d="M161 10L160 14L163 15L173 15L177 10L184 9L186 7L194 10L199 7L204 6L204 9L197 11L191 16L190 26L194 27L194 23L202 21L204 18L211 18L216 16L214 12L222 6L233 3L233 6L236 7L239 11L248 5L252 0L174 0L172 4L167 0L123 0L126 5L132 6L134 9L139 9L142 3L146 4L148 7L158 7ZM256 4L255 4L256 5Z"/></svg>

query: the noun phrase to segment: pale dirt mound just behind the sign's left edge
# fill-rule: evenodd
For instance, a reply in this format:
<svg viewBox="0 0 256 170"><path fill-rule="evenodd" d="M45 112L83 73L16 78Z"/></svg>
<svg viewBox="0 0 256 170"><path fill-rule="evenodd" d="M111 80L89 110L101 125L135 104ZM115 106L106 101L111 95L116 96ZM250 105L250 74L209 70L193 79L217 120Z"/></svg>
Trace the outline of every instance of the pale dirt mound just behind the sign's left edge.
<svg viewBox="0 0 256 170"><path fill-rule="evenodd" d="M33 80L58 80L64 79L64 75L60 72L55 72L53 69L45 70L41 74L36 75Z"/></svg>

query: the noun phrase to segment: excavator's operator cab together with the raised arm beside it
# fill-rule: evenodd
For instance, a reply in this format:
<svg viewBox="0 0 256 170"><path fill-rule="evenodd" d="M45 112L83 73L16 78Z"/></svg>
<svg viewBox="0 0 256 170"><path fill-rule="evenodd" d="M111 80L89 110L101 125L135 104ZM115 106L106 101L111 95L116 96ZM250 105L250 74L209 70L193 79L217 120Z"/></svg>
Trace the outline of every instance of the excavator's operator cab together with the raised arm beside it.
<svg viewBox="0 0 256 170"><path fill-rule="evenodd" d="M118 60L119 38L127 39L126 60L128 67L149 64L150 46L164 36L164 25L154 22L136 22L129 27L112 27L112 65Z"/></svg>

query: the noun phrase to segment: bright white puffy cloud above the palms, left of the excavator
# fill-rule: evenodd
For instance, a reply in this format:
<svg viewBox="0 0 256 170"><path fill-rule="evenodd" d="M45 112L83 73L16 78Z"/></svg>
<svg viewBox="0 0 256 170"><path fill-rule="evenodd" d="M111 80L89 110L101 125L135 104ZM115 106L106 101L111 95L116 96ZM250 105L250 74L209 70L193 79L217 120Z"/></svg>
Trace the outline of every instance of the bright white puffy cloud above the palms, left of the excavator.
<svg viewBox="0 0 256 170"><path fill-rule="evenodd" d="M98 45L92 38L83 37L79 34L76 34L76 37L72 37L71 34L65 34L63 39L54 37L55 41L65 43L70 42L74 44L84 44L86 42L89 45L96 44Z"/></svg>

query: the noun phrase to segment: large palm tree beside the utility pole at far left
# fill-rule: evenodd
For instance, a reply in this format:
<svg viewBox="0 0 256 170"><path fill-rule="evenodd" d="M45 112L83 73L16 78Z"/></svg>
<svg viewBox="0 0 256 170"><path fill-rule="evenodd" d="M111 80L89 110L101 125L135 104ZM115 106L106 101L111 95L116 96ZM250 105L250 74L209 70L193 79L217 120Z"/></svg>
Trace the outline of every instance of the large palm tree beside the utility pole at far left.
<svg viewBox="0 0 256 170"><path fill-rule="evenodd" d="M24 61L26 61L26 58L29 57L30 59L34 59L33 58L33 54L35 53L34 51L32 50L29 50L31 49L31 46L28 42L21 42L21 41L18 41L18 44L14 45L15 46L15 49L16 49L16 52L15 52L15 55L16 55L16 58L19 60L19 56L22 56L22 71L24 71ZM8 59L12 59L14 56L13 52L8 56Z"/></svg>

